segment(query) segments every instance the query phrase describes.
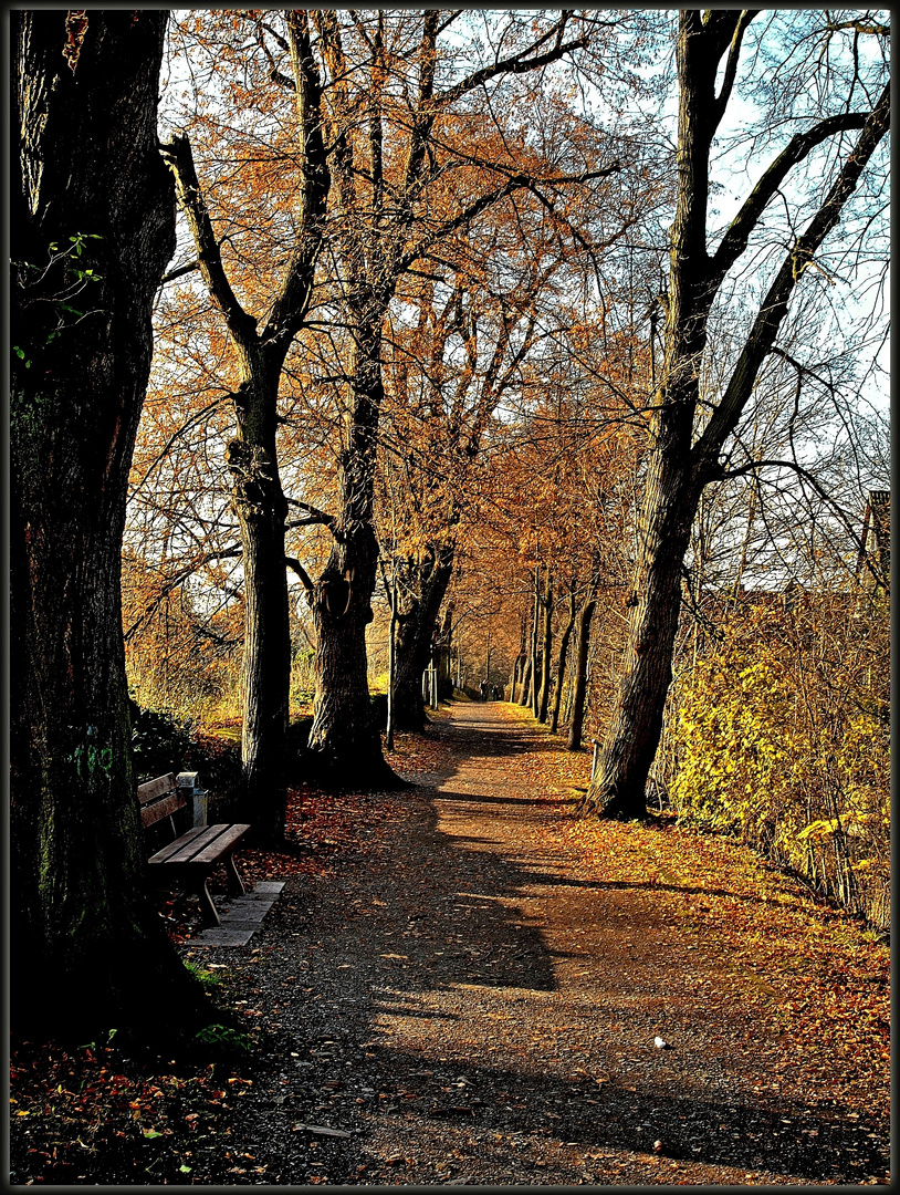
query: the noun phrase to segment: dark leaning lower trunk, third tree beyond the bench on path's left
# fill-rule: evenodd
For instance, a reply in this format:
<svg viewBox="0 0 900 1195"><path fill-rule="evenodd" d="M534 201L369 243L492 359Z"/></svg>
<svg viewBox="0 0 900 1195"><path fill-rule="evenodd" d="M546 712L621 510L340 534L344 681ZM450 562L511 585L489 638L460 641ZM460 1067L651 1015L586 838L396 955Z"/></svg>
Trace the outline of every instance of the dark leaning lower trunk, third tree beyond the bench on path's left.
<svg viewBox="0 0 900 1195"><path fill-rule="evenodd" d="M455 546L432 545L424 562L403 570L396 639L396 717L401 730L421 730L429 721L421 675L429 667L440 605L454 575Z"/></svg>

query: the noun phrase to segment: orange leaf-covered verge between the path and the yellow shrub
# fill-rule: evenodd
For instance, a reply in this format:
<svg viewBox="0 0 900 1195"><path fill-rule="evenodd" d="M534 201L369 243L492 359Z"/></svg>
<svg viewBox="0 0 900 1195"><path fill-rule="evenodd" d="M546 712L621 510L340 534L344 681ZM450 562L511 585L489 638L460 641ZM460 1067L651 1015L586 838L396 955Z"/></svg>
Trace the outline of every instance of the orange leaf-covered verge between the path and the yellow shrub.
<svg viewBox="0 0 900 1195"><path fill-rule="evenodd" d="M549 788L559 772L541 762ZM790 1041L769 1090L788 1072L807 1095L887 1120L890 952L876 934L754 852L673 820L645 829L569 819L563 834L600 882L648 887L664 915L715 940L731 991Z"/></svg>

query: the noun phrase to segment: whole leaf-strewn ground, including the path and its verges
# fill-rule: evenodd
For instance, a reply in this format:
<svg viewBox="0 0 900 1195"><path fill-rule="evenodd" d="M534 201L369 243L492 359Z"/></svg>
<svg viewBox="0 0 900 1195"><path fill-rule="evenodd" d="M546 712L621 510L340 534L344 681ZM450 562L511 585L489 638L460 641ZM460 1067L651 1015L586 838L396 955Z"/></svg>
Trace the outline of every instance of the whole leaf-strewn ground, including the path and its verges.
<svg viewBox="0 0 900 1195"><path fill-rule="evenodd" d="M888 951L735 844L582 822L516 706L295 790L249 948L192 940L249 1053L13 1042L16 1183L883 1183ZM656 1047L654 1038L666 1042Z"/></svg>

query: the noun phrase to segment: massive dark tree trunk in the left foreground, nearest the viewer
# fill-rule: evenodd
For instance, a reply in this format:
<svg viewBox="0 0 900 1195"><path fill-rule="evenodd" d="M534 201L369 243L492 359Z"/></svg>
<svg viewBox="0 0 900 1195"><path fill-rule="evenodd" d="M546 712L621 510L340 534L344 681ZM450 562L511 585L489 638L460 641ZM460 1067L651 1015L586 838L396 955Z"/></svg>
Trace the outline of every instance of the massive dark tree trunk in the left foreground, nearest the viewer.
<svg viewBox="0 0 900 1195"><path fill-rule="evenodd" d="M152 305L175 244L155 128L166 19L12 16L13 1016L42 1035L140 1024L148 1007L172 1032L202 1010L144 891L119 599ZM80 288L75 269L93 271Z"/></svg>

